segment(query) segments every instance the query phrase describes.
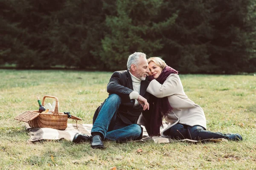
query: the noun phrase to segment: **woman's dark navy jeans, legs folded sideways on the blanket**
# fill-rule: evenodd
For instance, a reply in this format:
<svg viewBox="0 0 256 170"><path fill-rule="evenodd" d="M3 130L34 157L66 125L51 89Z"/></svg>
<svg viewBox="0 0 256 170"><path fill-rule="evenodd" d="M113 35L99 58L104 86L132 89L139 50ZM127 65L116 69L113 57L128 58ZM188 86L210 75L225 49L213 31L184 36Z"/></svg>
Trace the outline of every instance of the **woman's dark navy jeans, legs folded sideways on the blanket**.
<svg viewBox="0 0 256 170"><path fill-rule="evenodd" d="M165 131L165 134L172 139L192 139L192 140L204 140L204 139L228 139L227 136L221 135L221 133L214 133L205 130L204 127L195 125L183 125L177 123L169 130Z"/></svg>

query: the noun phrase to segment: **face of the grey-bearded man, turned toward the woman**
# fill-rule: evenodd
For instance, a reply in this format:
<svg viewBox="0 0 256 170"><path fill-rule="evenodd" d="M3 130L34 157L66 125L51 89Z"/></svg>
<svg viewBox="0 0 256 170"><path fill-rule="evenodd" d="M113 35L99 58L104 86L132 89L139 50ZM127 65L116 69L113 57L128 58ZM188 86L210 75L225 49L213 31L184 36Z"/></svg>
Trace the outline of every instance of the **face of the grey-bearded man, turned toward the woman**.
<svg viewBox="0 0 256 170"><path fill-rule="evenodd" d="M140 80L145 80L148 73L149 73L149 69L148 69L147 59L145 57L140 57L140 61L136 66L134 76Z"/></svg>

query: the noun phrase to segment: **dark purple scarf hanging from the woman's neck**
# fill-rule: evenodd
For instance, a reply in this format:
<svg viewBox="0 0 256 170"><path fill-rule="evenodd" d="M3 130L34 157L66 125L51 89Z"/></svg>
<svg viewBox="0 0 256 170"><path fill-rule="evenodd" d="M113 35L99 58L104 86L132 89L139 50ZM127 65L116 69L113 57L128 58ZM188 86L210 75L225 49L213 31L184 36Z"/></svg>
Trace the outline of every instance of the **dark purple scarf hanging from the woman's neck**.
<svg viewBox="0 0 256 170"><path fill-rule="evenodd" d="M163 84L170 74L178 74L178 71L166 65L162 73L157 77L157 82ZM154 79L153 76L148 76L149 81ZM162 120L164 116L167 116L169 111L172 111L172 106L169 103L168 97L156 98L153 97L153 108L151 110L151 135L160 136L160 126L163 126Z"/></svg>

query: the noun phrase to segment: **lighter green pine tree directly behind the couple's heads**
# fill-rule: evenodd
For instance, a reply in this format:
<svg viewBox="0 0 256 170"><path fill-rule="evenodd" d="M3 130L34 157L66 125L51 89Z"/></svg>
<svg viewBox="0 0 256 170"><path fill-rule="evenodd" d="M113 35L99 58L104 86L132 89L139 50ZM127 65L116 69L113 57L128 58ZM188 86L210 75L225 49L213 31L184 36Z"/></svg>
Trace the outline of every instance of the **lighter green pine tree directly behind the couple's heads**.
<svg viewBox="0 0 256 170"><path fill-rule="evenodd" d="M108 32L102 40L101 60L107 69L127 69L128 56L152 56L163 47L157 36L157 14L162 0L116 0L116 13L106 17Z"/></svg>

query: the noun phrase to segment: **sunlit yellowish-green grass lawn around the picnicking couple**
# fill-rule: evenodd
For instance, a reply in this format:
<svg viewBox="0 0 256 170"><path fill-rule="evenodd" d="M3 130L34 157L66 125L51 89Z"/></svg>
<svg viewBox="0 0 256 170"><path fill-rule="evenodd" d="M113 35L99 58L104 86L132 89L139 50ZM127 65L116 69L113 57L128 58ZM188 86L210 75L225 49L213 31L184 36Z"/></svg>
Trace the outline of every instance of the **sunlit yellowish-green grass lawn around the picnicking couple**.
<svg viewBox="0 0 256 170"><path fill-rule="evenodd" d="M204 109L208 130L240 133L242 142L104 142L105 150L93 150L87 142L26 142L29 133L13 118L23 111L37 110L36 96L57 96L60 111L81 117L79 123L92 123L94 111L108 96L111 74L0 70L0 169L255 169L253 75L180 75L186 95Z"/></svg>

